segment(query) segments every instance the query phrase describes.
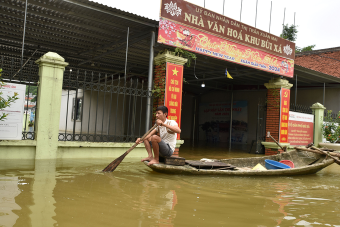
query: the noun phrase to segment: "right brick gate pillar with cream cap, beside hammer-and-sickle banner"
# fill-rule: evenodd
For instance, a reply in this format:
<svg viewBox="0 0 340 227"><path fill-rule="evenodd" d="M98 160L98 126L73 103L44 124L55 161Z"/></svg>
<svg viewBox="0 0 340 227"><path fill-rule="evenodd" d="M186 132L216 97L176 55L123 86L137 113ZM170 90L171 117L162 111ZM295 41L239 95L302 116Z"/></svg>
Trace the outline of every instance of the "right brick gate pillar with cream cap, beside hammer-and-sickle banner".
<svg viewBox="0 0 340 227"><path fill-rule="evenodd" d="M267 91L267 110L265 132L270 131L270 135L278 141L278 130L280 122L280 89L290 89L293 84L283 78L274 78L264 83ZM265 142L262 142L265 147L265 154L273 155L282 152L281 148L269 137L265 137ZM289 145L289 143L280 143L282 146Z"/></svg>

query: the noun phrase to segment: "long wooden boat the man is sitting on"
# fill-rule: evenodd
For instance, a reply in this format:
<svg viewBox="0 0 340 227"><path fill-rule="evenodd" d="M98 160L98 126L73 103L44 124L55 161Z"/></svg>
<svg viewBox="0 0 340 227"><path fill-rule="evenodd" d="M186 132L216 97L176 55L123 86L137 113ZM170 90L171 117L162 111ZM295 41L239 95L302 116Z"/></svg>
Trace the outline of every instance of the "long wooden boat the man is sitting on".
<svg viewBox="0 0 340 227"><path fill-rule="evenodd" d="M260 163L265 166L265 159L271 159L275 161L290 160L294 163L293 168L285 169L266 169L266 170L251 170L253 166ZM191 164L184 166L168 165L160 162L159 164L148 165L152 170L161 173L169 174L193 174L193 175L233 175L233 176L289 176L289 175L306 175L313 174L334 163L331 158L326 158L326 155L311 153L306 151L291 150L276 155L261 156L261 157L244 157L244 158L230 158L218 160L222 163L228 163L234 167L228 169L220 169L220 166L215 169L211 166L211 169L202 169L204 167L193 167ZM144 161L147 165L148 161ZM213 163L213 162L209 162ZM236 167L235 167L236 166ZM205 167L206 168L206 167Z"/></svg>

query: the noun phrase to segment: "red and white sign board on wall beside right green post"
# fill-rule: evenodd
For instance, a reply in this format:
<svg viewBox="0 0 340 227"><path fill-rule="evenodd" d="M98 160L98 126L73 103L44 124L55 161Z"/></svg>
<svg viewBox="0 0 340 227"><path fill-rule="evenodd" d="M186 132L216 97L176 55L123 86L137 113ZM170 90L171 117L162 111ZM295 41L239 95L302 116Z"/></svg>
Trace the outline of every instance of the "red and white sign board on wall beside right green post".
<svg viewBox="0 0 340 227"><path fill-rule="evenodd" d="M306 146L313 142L314 115L289 111L288 141L290 145Z"/></svg>

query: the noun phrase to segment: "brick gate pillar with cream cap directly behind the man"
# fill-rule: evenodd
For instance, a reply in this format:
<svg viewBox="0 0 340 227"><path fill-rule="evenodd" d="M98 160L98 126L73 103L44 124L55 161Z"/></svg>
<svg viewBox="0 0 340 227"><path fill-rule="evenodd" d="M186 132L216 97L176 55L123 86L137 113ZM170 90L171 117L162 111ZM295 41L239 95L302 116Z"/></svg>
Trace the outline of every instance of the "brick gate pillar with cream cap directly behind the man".
<svg viewBox="0 0 340 227"><path fill-rule="evenodd" d="M155 109L158 105L164 105L165 101L166 62L184 65L186 61L186 58L175 56L168 51L162 54L158 53L158 55L154 57L153 89L157 88L159 92L157 94L158 96L153 99L152 103L152 122L156 120L155 115L153 114L155 112ZM179 146L182 143L183 140L177 140L176 148L174 149L173 155L178 156Z"/></svg>

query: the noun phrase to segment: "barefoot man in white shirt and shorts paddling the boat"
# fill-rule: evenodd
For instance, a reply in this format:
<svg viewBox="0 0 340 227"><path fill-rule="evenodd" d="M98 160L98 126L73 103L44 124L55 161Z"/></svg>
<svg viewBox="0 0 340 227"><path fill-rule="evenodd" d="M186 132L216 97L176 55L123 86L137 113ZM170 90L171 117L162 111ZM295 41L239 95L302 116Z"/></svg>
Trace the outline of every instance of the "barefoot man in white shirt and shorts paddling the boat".
<svg viewBox="0 0 340 227"><path fill-rule="evenodd" d="M143 141L140 138L136 140L136 143L144 142L148 156L141 159L141 161L149 161L148 165L158 164L159 155L171 156L174 151L177 133L180 133L180 128L176 121L166 118L167 112L166 106L158 106L156 108L156 123L158 126ZM160 137L156 135L156 132L159 132ZM151 148L153 149L154 156L152 155Z"/></svg>

